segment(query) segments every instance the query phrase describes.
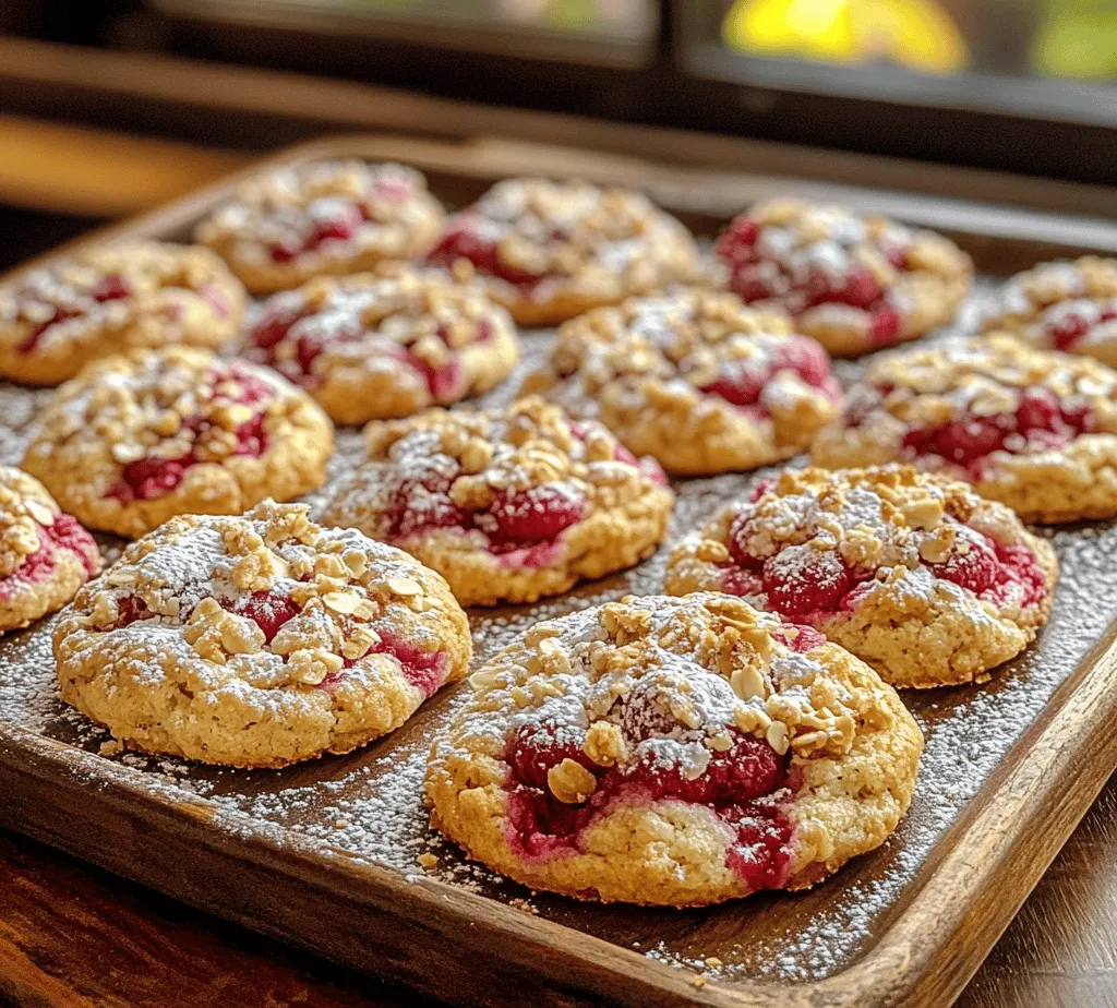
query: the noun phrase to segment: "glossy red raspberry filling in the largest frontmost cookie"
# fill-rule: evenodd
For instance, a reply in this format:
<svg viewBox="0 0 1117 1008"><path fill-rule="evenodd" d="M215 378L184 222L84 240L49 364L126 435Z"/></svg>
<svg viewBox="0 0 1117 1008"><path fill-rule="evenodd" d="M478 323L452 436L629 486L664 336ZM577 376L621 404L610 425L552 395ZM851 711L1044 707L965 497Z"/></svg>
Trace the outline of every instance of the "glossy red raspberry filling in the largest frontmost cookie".
<svg viewBox="0 0 1117 1008"><path fill-rule="evenodd" d="M661 704L649 702L647 693L633 692L620 703L620 725L630 749L678 726ZM704 772L691 780L680 768L650 757L630 767L599 767L582 751L580 728L544 723L517 729L505 752L509 846L525 860L573 854L584 849L585 830L618 802L680 801L712 809L733 831L726 864L750 888L781 885L792 836L781 807L790 797L787 757L735 728L728 731L732 748L710 752ZM593 795L583 803L562 802L547 787L547 772L566 759L596 778Z"/></svg>

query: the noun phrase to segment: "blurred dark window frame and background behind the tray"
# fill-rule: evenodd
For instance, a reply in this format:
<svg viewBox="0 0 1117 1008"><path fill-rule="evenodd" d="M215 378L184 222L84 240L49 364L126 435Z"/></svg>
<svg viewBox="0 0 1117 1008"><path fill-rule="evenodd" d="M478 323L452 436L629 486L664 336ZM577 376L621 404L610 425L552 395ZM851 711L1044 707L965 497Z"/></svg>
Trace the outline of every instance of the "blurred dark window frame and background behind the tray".
<svg viewBox="0 0 1117 1008"><path fill-rule="evenodd" d="M899 159L916 189L989 198L977 169L1117 217L1117 0L0 3L0 224L30 246L355 130L838 180Z"/></svg>

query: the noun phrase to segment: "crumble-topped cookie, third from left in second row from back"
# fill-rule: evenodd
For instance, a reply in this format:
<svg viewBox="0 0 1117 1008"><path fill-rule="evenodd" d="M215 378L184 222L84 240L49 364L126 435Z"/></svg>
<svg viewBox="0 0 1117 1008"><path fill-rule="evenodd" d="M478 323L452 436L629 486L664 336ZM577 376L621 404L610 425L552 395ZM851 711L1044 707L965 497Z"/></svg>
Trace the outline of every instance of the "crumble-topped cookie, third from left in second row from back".
<svg viewBox="0 0 1117 1008"><path fill-rule="evenodd" d="M634 297L567 322L541 392L669 473L752 469L805 450L838 412L830 359L781 312L733 294Z"/></svg>

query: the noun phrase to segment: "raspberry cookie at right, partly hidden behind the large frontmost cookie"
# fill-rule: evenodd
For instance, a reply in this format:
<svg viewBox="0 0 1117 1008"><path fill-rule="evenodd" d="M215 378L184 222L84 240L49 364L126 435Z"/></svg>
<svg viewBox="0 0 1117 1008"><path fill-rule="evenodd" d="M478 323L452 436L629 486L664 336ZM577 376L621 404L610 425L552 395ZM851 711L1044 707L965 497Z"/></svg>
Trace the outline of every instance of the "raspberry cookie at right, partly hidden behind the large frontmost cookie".
<svg viewBox="0 0 1117 1008"><path fill-rule="evenodd" d="M785 472L671 553L670 595L806 624L894 686L985 682L1051 609L1058 564L1005 505L909 466Z"/></svg>

